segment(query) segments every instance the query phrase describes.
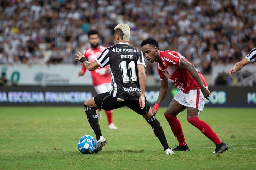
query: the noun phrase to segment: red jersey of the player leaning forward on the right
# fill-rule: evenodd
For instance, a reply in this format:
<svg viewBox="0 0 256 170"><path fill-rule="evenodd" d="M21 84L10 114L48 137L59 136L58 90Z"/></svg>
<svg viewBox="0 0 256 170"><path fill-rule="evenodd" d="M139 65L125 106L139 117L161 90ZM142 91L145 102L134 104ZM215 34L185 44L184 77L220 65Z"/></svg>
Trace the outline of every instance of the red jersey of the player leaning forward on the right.
<svg viewBox="0 0 256 170"><path fill-rule="evenodd" d="M161 63L157 63L157 71L160 79L169 78L173 80L173 83L178 90L183 91L184 93L199 88L196 80L194 80L191 74L187 70L179 68L181 58L189 62L185 57L175 51L161 51L160 57ZM206 87L207 83L204 76L200 71L198 71L198 73Z"/></svg>

